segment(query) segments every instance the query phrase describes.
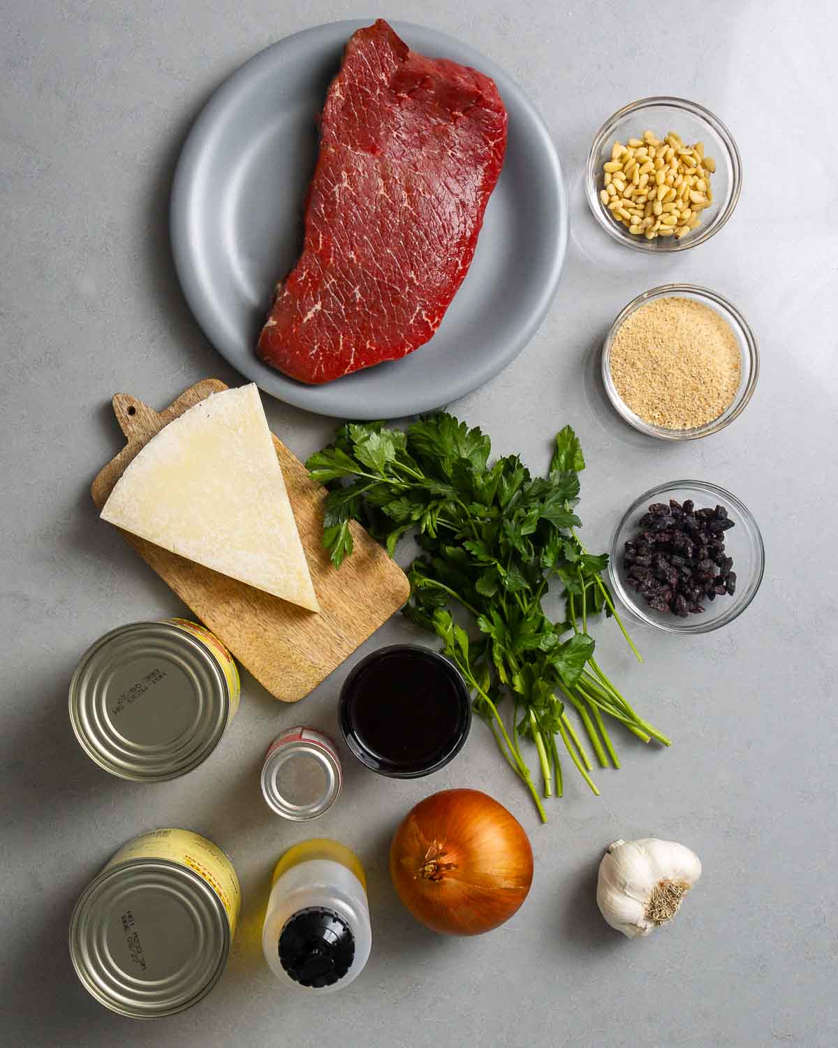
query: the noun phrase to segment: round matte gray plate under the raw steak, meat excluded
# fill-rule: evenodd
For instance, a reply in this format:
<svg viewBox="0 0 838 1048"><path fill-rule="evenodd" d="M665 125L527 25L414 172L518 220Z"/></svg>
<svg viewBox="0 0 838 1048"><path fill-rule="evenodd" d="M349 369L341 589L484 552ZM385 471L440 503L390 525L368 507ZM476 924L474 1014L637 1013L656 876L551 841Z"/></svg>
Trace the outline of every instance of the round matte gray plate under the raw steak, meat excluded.
<svg viewBox="0 0 838 1048"><path fill-rule="evenodd" d="M323 415L397 418L456 400L521 352L556 289L568 203L547 128L506 73L441 32L394 23L414 50L494 78L509 112L506 161L475 261L437 333L401 361L325 386L305 386L262 364L253 347L273 286L302 247L316 117L344 45L365 24L332 22L288 37L216 92L178 161L172 246L204 333L260 389Z"/></svg>

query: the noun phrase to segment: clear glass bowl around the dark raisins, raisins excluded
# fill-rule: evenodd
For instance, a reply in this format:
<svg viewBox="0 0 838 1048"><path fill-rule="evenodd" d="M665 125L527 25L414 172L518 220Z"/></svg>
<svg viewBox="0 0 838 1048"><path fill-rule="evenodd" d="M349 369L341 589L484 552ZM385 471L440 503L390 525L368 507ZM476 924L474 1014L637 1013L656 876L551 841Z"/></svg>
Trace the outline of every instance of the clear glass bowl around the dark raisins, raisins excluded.
<svg viewBox="0 0 838 1048"><path fill-rule="evenodd" d="M654 611L636 590L629 586L623 567L623 546L640 530L639 520L653 502L668 502L677 499L683 502L692 499L697 509L704 506L724 506L735 527L725 531L725 551L733 558L736 572L736 591L733 596L716 596L714 601L704 599L703 612L679 618L670 612ZM709 633L720 626L727 626L745 611L756 596L765 570L765 546L756 521L751 511L730 492L703 480L674 480L668 484L644 492L620 521L611 543L609 573L614 591L632 614L657 630L667 633Z"/></svg>

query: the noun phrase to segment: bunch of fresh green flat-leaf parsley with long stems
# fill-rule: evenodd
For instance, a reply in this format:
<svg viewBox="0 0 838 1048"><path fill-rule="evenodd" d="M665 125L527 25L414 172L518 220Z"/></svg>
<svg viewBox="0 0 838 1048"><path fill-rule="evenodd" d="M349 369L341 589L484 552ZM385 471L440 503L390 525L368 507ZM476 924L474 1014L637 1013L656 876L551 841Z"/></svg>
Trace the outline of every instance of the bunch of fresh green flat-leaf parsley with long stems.
<svg viewBox="0 0 838 1048"><path fill-rule="evenodd" d="M442 638L471 689L475 711L546 821L522 739L535 745L545 796L554 789L561 795L557 737L598 793L568 705L578 713L602 767L609 761L619 767L603 714L646 742L669 741L638 717L594 658L589 623L602 612L637 651L602 580L608 555L589 553L576 534L585 459L575 433L565 427L557 434L546 477L531 477L515 455L489 465L490 451L479 429L441 412L406 432L382 422L343 425L307 465L330 487L323 540L335 567L352 552L351 519L383 542L391 556L403 534L417 532L423 554L409 569L404 614ZM565 618L558 623L542 609L553 577L564 588ZM455 623L456 605L473 616L477 639ZM509 711L506 720L503 708Z"/></svg>

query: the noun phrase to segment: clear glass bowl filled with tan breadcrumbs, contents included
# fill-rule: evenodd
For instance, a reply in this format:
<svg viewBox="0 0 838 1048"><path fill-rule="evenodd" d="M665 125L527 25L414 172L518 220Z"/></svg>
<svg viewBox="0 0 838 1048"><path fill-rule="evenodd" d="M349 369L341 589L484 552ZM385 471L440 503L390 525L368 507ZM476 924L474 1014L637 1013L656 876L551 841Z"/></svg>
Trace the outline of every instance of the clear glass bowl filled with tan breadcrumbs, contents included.
<svg viewBox="0 0 838 1048"><path fill-rule="evenodd" d="M759 374L756 339L736 307L696 284L644 291L602 346L602 380L619 414L661 440L697 440L742 414Z"/></svg>

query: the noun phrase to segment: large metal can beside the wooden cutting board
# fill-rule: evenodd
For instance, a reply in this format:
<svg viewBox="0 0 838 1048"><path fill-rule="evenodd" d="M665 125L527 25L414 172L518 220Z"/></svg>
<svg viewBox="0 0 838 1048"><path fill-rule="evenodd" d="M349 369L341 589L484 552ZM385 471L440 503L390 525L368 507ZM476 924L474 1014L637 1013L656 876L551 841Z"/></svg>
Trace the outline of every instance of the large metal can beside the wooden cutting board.
<svg viewBox="0 0 838 1048"><path fill-rule="evenodd" d="M185 618L131 623L82 656L70 722L106 771L135 782L176 779L206 760L239 707L233 656Z"/></svg>

